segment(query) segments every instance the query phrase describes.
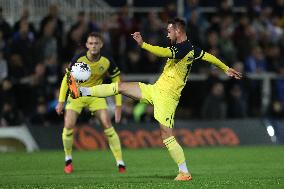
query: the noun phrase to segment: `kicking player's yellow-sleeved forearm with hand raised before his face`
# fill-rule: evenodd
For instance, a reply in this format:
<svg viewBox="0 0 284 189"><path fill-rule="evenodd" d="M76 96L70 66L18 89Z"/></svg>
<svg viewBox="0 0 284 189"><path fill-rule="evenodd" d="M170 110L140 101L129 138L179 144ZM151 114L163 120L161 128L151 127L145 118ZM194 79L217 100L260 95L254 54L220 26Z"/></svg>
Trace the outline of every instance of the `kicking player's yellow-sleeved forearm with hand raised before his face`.
<svg viewBox="0 0 284 189"><path fill-rule="evenodd" d="M145 43L142 39L142 36L140 32L135 32L131 34L133 39L137 42L137 44L145 49L146 51L158 56L158 57L168 57L172 58L173 54L172 51L169 48L159 47L159 46L153 46L148 43Z"/></svg>

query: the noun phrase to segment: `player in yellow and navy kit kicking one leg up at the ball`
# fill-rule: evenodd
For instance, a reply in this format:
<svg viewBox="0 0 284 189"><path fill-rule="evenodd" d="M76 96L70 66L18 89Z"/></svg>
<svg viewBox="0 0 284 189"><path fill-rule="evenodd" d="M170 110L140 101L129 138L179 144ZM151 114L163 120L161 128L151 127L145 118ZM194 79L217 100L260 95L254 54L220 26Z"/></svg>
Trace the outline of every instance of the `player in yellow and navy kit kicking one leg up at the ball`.
<svg viewBox="0 0 284 189"><path fill-rule="evenodd" d="M240 79L241 74L226 66L215 56L191 45L187 40L185 22L182 19L176 18L169 21L167 31L167 37L172 43L167 48L152 46L143 42L139 32L132 34L138 45L143 49L159 57L168 58L163 73L155 84L118 82L91 88L80 87L79 90L82 96L106 97L123 94L152 104L154 106L154 117L160 124L163 143L179 167L179 174L175 180L191 180L192 177L187 169L183 150L173 136L173 125L176 107L181 91L189 77L192 63L196 60L209 62L222 69L228 76L236 79ZM77 91L73 91L73 93L75 92Z"/></svg>

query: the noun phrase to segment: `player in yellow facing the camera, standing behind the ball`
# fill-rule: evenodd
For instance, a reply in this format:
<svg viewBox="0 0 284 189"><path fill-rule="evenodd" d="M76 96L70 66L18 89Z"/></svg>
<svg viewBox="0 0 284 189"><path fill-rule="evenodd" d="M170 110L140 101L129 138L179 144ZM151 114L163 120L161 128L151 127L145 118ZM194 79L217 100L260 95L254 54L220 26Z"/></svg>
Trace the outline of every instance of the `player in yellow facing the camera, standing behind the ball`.
<svg viewBox="0 0 284 189"><path fill-rule="evenodd" d="M108 75L112 82L120 81L120 70L110 59L101 56L100 50L103 47L103 40L100 34L90 33L87 37L86 47L88 51L82 52L75 56L72 61L70 68L76 62L84 62L91 68L90 78L81 83L81 86L92 87L103 83L103 79ZM68 78L67 75L70 71L65 74L60 88L60 94L58 104L56 106L56 112L62 114L65 98L68 92ZM121 104L122 98L120 94L115 96L116 109L115 109L115 121L119 122L121 118ZM72 145L73 145L73 130L76 125L77 118L84 107L88 107L91 112L99 119L101 125L104 128L104 133L108 139L110 149L116 159L119 172L125 172L125 164L122 159L121 145L119 137L114 130L110 117L107 112L107 103L105 98L97 97L79 97L73 99L71 95L67 97L66 111L64 118L64 129L62 133L62 141L65 151L65 173L72 173Z"/></svg>

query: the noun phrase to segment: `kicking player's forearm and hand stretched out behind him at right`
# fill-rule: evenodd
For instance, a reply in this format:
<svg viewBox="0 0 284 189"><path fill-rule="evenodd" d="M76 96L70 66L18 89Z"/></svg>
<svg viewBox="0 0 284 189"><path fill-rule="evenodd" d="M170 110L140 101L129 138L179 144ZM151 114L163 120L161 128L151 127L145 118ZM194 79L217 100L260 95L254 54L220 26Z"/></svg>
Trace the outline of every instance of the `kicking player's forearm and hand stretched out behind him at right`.
<svg viewBox="0 0 284 189"><path fill-rule="evenodd" d="M205 60L215 66L217 66L218 68L222 69L229 77L234 77L235 79L241 79L242 78L242 74L238 71L236 71L233 68L228 67L226 64L224 64L221 60L219 60L218 58L216 58L214 55L205 52L202 60Z"/></svg>

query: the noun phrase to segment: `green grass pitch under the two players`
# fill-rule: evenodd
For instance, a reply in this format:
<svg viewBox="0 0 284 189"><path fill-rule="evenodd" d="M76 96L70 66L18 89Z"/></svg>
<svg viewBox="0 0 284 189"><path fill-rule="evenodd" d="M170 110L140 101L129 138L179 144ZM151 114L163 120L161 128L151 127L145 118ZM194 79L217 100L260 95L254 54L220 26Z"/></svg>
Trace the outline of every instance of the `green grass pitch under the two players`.
<svg viewBox="0 0 284 189"><path fill-rule="evenodd" d="M284 188L284 146L184 149L193 180L174 181L165 148L124 150L120 174L108 150L75 151L63 173L62 151L0 154L0 188Z"/></svg>

